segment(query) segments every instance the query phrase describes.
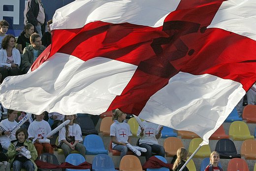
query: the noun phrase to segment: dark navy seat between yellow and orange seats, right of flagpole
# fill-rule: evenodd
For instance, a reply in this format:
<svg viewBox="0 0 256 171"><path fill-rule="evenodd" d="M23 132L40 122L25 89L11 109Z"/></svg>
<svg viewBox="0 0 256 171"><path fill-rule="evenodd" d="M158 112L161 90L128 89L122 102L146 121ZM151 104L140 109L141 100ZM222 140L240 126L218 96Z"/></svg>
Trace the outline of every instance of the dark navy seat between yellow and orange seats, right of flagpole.
<svg viewBox="0 0 256 171"><path fill-rule="evenodd" d="M241 155L237 154L235 144L231 139L218 140L215 151L220 154L221 159L241 158Z"/></svg>

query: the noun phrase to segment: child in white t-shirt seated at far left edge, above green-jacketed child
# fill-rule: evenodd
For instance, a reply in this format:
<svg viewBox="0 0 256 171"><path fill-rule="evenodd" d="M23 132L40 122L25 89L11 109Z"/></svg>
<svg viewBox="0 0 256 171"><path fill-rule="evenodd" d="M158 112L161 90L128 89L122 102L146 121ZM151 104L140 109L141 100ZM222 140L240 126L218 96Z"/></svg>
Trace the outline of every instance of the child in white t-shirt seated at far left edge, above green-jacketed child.
<svg viewBox="0 0 256 171"><path fill-rule="evenodd" d="M0 143L2 144L3 149L6 151L11 144L11 140L15 139L15 132L10 132L10 130L17 125L15 121L17 117L18 111L8 109L7 111L7 119L1 121L0 125L5 129L5 131L0 128L1 135L0 135Z"/></svg>

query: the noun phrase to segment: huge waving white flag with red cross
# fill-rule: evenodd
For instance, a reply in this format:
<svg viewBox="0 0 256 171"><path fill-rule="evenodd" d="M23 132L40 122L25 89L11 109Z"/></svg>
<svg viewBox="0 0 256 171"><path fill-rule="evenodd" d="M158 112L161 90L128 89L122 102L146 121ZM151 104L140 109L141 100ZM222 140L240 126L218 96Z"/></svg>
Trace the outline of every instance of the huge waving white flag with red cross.
<svg viewBox="0 0 256 171"><path fill-rule="evenodd" d="M0 86L6 108L120 108L208 143L256 81L256 0L75 0L52 46Z"/></svg>

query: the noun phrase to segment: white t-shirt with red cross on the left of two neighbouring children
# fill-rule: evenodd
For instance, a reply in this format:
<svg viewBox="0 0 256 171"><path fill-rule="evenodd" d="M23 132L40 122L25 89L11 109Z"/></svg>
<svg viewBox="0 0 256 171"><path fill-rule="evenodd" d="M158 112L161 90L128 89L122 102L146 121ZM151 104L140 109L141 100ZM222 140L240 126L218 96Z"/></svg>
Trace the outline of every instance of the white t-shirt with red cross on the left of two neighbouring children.
<svg viewBox="0 0 256 171"><path fill-rule="evenodd" d="M126 122L115 122L110 126L110 136L115 136L119 142L128 142L128 137L132 136L130 126ZM112 148L117 144L112 143Z"/></svg>

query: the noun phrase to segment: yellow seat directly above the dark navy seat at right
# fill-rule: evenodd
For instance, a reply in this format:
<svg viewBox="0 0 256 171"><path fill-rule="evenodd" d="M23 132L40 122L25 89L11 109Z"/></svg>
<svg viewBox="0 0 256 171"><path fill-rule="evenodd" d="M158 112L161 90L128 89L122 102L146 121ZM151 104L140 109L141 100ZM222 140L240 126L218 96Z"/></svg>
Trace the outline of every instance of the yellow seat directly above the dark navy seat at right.
<svg viewBox="0 0 256 171"><path fill-rule="evenodd" d="M243 121L234 121L229 127L229 136L233 140L245 140L245 139L254 139L254 136L251 136L248 125Z"/></svg>

